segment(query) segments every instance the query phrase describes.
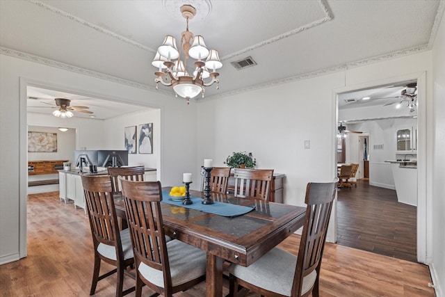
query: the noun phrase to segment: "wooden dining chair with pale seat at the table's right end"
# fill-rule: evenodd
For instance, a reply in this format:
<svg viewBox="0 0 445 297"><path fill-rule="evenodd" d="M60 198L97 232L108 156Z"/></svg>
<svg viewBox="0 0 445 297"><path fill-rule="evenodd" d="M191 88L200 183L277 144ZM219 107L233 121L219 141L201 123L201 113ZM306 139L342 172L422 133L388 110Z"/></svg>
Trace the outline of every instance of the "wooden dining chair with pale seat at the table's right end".
<svg viewBox="0 0 445 297"><path fill-rule="evenodd" d="M337 182L307 184L305 225L298 256L273 248L248 267L231 264L227 268L229 296L236 296L241 286L268 297L311 293L318 297L321 257L336 191Z"/></svg>

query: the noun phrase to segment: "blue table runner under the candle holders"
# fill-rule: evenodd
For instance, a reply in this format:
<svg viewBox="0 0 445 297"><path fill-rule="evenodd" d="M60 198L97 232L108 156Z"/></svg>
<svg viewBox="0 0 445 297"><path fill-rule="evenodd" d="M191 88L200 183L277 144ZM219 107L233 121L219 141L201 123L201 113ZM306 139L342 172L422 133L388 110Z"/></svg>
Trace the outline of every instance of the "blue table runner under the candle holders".
<svg viewBox="0 0 445 297"><path fill-rule="evenodd" d="M255 207L246 207L243 205L229 204L224 202L214 202L213 204L202 204L202 198L191 196L190 199L193 204L182 204L182 201L173 201L170 199L170 195L167 191L162 191L162 202L176 205L178 207L186 207L189 209L195 209L204 211L209 214L216 214L218 216L241 216L255 209Z"/></svg>

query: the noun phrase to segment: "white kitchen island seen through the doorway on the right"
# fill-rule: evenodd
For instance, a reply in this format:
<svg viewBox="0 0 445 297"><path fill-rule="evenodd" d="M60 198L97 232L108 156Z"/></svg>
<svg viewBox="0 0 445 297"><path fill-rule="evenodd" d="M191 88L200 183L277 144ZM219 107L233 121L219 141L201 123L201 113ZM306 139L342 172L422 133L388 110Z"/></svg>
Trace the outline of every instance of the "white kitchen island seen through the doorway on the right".
<svg viewBox="0 0 445 297"><path fill-rule="evenodd" d="M385 161L391 163L397 200L417 206L417 161Z"/></svg>

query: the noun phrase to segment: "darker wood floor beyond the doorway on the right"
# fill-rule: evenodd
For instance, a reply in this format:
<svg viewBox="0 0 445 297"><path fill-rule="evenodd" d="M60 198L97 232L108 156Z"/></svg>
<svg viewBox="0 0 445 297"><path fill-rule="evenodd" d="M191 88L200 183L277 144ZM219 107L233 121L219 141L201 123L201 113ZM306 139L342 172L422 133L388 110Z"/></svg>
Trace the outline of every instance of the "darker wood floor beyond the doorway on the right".
<svg viewBox="0 0 445 297"><path fill-rule="evenodd" d="M338 244L417 262L416 207L397 202L396 191L359 179L337 199Z"/></svg>

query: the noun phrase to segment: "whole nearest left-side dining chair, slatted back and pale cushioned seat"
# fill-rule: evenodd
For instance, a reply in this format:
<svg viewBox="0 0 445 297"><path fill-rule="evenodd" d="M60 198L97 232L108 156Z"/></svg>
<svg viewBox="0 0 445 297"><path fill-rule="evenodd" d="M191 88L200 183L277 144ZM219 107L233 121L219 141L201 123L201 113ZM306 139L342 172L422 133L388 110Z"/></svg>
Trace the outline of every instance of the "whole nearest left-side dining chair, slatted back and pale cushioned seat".
<svg viewBox="0 0 445 297"><path fill-rule="evenodd" d="M179 240L165 241L161 182L121 182L136 261L136 296L144 284L157 294L172 296L205 280L204 250Z"/></svg>

